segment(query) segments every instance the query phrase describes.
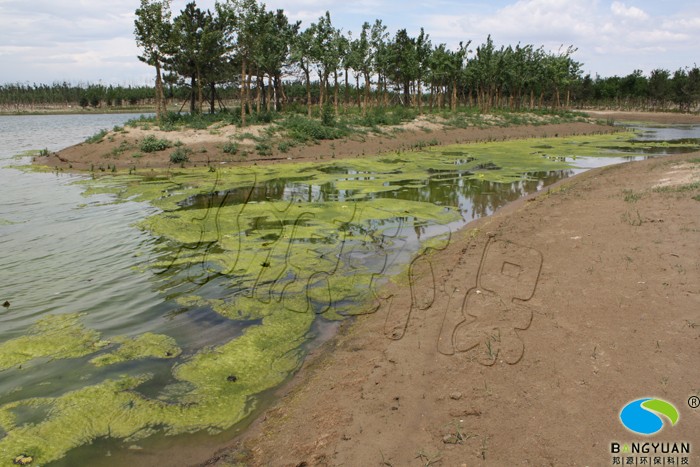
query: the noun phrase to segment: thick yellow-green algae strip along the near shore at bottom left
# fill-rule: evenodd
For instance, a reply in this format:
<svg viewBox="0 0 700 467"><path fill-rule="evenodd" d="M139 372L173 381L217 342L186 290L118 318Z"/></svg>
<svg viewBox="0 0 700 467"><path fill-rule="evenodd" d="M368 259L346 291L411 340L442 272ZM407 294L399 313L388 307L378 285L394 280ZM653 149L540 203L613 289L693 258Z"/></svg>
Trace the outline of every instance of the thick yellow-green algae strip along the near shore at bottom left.
<svg viewBox="0 0 700 467"><path fill-rule="evenodd" d="M251 394L279 385L301 361L304 342L313 316L280 311L252 327L242 337L204 350L177 365L174 376L189 383L178 403L148 399L138 386L149 375L128 376L87 386L57 398L27 399L0 407L0 465L25 454L45 463L61 458L75 447L99 437L135 441L153 434L202 429L226 429L253 407ZM17 423L22 406L49 408L45 420ZM47 443L47 440L50 440Z"/></svg>

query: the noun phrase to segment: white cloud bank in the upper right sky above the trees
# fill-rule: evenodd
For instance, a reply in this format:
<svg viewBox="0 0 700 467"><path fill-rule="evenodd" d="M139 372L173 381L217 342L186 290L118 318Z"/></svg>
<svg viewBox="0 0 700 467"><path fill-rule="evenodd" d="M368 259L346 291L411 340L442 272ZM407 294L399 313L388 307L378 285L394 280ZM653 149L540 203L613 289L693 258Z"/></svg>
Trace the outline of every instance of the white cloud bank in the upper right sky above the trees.
<svg viewBox="0 0 700 467"><path fill-rule="evenodd" d="M518 0L492 13L440 14L424 21L434 42L451 46L468 39L479 44L488 34L498 45L520 42L552 51L574 45L574 58L584 69L604 76L690 65L692 44L700 42L700 15L652 18L618 1Z"/></svg>

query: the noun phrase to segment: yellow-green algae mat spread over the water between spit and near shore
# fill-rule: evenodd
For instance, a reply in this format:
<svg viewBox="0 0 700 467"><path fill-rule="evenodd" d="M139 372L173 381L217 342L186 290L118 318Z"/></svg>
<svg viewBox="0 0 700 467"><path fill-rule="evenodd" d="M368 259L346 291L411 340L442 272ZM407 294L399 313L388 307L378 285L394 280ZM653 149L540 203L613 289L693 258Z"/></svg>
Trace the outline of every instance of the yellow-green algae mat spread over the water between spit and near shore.
<svg viewBox="0 0 700 467"><path fill-rule="evenodd" d="M375 312L382 284L405 274L427 240L596 165L588 158L698 148L618 133L83 181L87 196L157 207L138 224L156 239L153 259L133 273L178 313L208 313L239 332L183 348L165 330L107 338L80 313L38 319L0 343L0 372L68 360L86 375L116 370L50 395L4 397L0 465L43 465L100 438L227 430L299 367L317 320Z"/></svg>

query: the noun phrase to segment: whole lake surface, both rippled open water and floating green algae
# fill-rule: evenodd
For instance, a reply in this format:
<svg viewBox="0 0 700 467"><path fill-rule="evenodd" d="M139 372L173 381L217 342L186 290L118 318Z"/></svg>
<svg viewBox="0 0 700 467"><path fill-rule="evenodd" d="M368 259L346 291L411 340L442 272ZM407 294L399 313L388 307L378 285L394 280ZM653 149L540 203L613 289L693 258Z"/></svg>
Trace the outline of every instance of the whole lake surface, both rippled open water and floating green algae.
<svg viewBox="0 0 700 467"><path fill-rule="evenodd" d="M0 448L5 443L38 450L32 436L52 433L49 422L60 426L73 420L61 434L66 448L56 448L54 457L83 444L85 432L97 442L70 450L61 465L123 465L138 459L134 452L175 447L184 452L194 444L210 449L240 428L241 416L260 407L260 398L287 378L304 348L327 334L324 329L338 313L371 312L356 308L371 301L367 291L400 273L426 240L583 170L649 157L642 140L681 139L667 128L644 128L634 148L611 139L601 149L585 138L452 146L371 163L294 166L287 173L273 168L222 169L219 178L175 173L148 186L134 177L93 182L9 168L17 163L14 154L57 150L130 117L0 117L0 302L11 302L9 309L0 308L0 345L26 335L47 315L81 313L77 319L84 331L99 333L99 341L93 339L93 347L80 349L79 356L47 354L0 371ZM669 150L697 149L693 139L700 127L678 131L687 141L672 143ZM621 145L630 152L615 156ZM515 151L528 155L529 162L514 157ZM596 157L587 157L592 154ZM86 196L85 187L97 194ZM109 194L125 190L128 201L115 202ZM160 198L163 191L167 196ZM305 306L315 312L313 319L301 312ZM275 334L275 326L285 332ZM118 351L117 336L145 333L174 338L182 353L104 367L90 363ZM271 356L257 352L263 343ZM230 361L229 355L239 357ZM265 368L236 366L241 359ZM269 371L273 363L282 366ZM240 392L256 373L267 379ZM135 414L108 431L91 433L73 426L79 413L65 408L47 420L48 406L69 403L81 390L144 374L150 376L135 383L127 399L96 403L93 414L106 417L108 410L139 407L154 420L161 417L159 427L147 426ZM217 379L202 382L211 375ZM255 394L259 397L251 397ZM55 399L23 402L38 397ZM205 410L202 397L225 401L235 413L221 417L221 408ZM15 417L9 428L26 430L27 441L15 442L7 434L13 430L3 422L2 408L12 404L5 411ZM202 422L194 423L195 417ZM223 433L212 437L204 430L208 424ZM167 426L196 434L164 436L161 427ZM49 431L39 432L42 427ZM64 439L72 436L68 427L83 441ZM110 438L117 428L133 436ZM140 449L130 449L134 446Z"/></svg>

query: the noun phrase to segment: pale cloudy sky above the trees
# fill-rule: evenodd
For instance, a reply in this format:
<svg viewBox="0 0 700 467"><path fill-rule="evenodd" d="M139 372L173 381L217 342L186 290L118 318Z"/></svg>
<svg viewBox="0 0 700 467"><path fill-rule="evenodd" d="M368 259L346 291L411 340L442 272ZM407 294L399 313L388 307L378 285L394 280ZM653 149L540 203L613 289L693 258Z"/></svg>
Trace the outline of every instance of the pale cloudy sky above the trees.
<svg viewBox="0 0 700 467"><path fill-rule="evenodd" d="M173 16L185 6L173 0ZM199 0L214 9L215 0ZM671 71L700 64L697 0L268 0L302 27L326 10L333 24L357 34L381 19L393 35L420 28L434 45L471 48L490 34L497 46L532 44L557 52L578 50L583 72L625 76L636 69ZM152 68L141 63L134 40L139 0L0 0L0 84L67 81L151 85Z"/></svg>

